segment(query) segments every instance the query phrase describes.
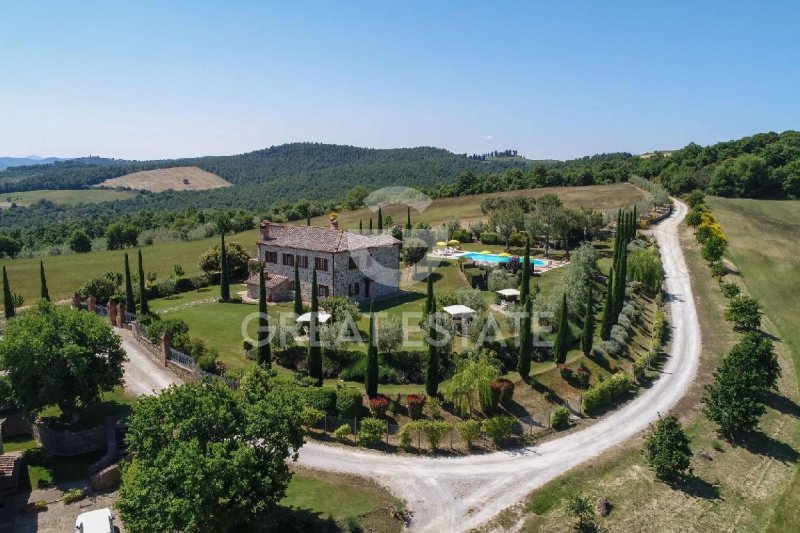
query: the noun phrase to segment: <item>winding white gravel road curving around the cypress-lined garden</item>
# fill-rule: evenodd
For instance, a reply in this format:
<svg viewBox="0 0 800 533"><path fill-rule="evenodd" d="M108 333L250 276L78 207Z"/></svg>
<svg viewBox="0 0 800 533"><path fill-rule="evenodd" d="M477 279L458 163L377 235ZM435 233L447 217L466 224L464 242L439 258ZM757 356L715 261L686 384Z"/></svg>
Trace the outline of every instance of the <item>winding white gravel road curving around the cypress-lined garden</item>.
<svg viewBox="0 0 800 533"><path fill-rule="evenodd" d="M687 207L655 228L666 272L672 347L650 389L586 429L539 446L460 458L397 456L308 442L299 464L374 479L403 498L414 531L478 527L528 493L576 465L645 430L667 413L697 373L700 324L689 272L678 240Z"/></svg>

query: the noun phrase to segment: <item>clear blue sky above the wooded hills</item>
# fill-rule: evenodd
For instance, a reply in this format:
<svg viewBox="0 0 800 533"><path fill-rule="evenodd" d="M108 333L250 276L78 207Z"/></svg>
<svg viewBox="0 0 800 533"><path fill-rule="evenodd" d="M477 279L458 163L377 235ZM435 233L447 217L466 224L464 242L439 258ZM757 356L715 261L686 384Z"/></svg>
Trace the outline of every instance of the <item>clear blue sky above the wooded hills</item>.
<svg viewBox="0 0 800 533"><path fill-rule="evenodd" d="M0 155L568 158L798 129L799 20L797 2L3 2Z"/></svg>

